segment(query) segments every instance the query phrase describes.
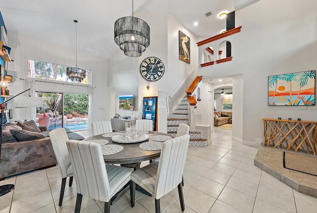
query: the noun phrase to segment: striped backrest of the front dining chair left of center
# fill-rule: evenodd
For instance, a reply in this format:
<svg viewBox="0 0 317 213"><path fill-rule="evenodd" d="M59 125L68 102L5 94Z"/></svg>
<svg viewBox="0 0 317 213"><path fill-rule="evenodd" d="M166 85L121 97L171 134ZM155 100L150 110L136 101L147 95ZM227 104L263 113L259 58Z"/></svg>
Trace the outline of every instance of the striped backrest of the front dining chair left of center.
<svg viewBox="0 0 317 213"><path fill-rule="evenodd" d="M66 144L74 171L77 193L108 202L111 194L100 144L80 140L68 140Z"/></svg>

